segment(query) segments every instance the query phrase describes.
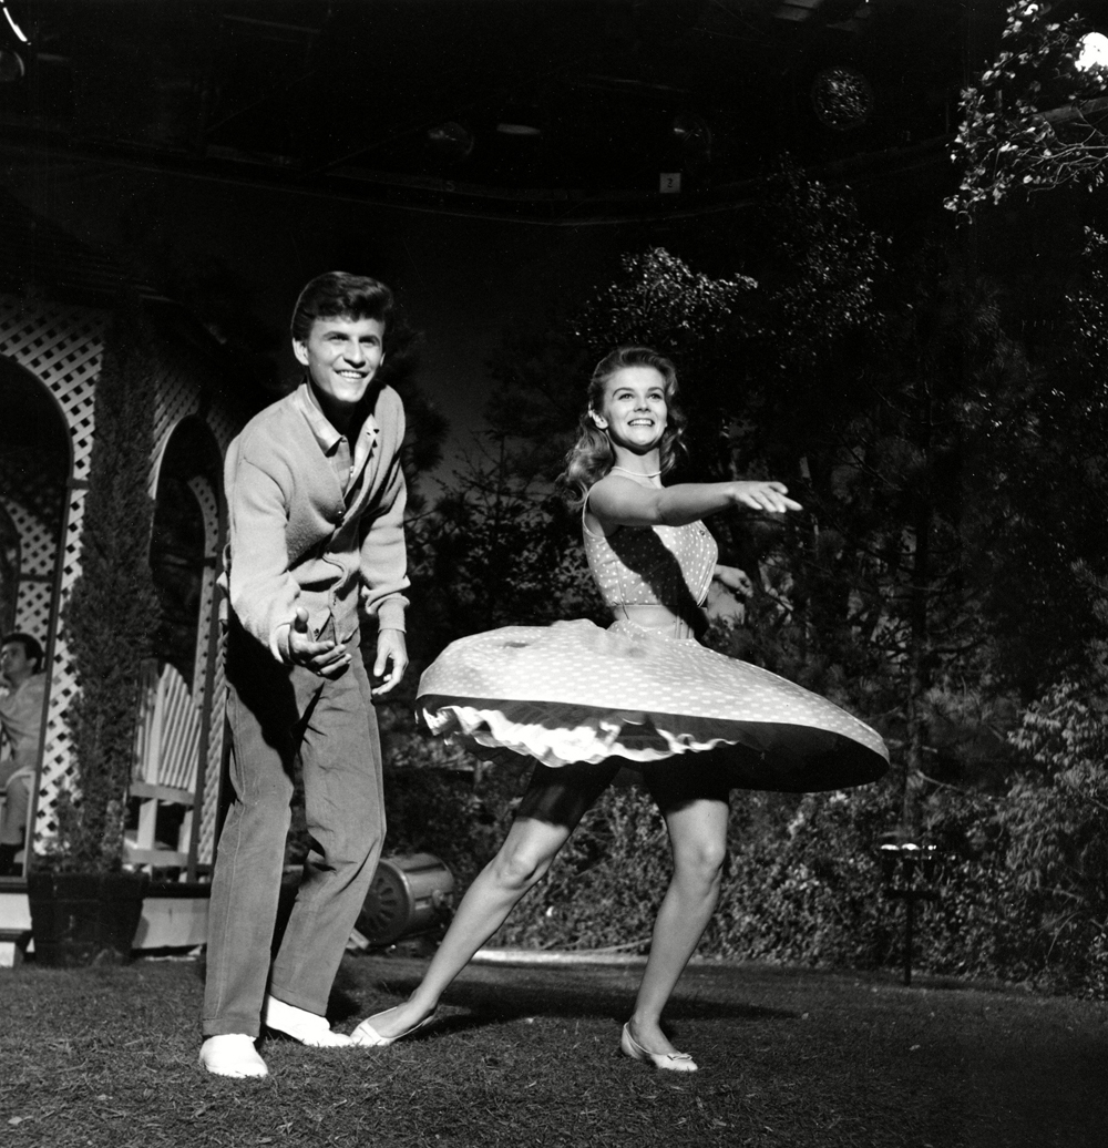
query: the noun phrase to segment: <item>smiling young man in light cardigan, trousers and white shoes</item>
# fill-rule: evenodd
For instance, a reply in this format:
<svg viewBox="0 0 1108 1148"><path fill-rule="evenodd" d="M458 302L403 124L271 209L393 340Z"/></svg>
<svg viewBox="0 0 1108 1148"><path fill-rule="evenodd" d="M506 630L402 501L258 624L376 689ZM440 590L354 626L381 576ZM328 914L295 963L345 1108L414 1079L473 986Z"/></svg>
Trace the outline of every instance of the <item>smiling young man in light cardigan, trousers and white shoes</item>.
<svg viewBox="0 0 1108 1148"><path fill-rule="evenodd" d="M234 800L211 887L201 1064L262 1077L261 1025L348 1045L324 1016L385 837L373 697L408 665L400 396L377 381L392 292L328 272L296 303L296 391L257 414L225 463L223 582ZM363 665L359 606L377 619ZM270 949L300 754L311 848Z"/></svg>

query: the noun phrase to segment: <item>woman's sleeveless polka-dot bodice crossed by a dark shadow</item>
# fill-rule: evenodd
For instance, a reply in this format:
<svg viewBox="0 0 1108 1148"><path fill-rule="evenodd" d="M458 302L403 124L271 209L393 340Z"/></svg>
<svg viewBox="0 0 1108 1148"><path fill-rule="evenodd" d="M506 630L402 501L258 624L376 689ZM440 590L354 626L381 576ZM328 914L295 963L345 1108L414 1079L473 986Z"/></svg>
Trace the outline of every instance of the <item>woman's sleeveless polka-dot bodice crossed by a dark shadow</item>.
<svg viewBox="0 0 1108 1148"><path fill-rule="evenodd" d="M612 611L661 605L685 616L707 597L719 551L703 522L623 526L610 535L584 526L583 534L589 569Z"/></svg>

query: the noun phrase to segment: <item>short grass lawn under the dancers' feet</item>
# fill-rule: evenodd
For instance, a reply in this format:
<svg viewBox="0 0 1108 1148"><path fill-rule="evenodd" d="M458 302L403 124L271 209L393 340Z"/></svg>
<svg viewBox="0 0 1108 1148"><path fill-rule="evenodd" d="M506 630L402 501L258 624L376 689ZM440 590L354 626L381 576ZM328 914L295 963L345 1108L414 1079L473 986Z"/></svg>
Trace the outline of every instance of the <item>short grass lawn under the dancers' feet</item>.
<svg viewBox="0 0 1108 1148"><path fill-rule="evenodd" d="M424 962L348 956L336 1025ZM1108 1006L886 974L691 968L671 1010L700 1071L619 1055L637 969L473 967L382 1050L271 1039L261 1081L196 1066L201 967L0 970L0 1143L1108 1146Z"/></svg>

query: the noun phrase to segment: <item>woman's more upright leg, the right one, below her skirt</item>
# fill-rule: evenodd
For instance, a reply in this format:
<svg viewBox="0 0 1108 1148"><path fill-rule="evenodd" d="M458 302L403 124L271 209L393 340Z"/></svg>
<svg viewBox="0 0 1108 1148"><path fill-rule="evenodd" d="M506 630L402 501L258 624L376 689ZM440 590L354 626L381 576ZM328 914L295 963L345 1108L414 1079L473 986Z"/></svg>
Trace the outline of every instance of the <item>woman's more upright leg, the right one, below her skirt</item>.
<svg viewBox="0 0 1108 1148"><path fill-rule="evenodd" d="M669 830L673 878L650 944L650 957L629 1022L632 1037L652 1053L676 1053L661 1031L661 1010L699 944L720 895L727 855L726 789L691 796L682 783L651 785ZM703 790L702 790L703 792Z"/></svg>

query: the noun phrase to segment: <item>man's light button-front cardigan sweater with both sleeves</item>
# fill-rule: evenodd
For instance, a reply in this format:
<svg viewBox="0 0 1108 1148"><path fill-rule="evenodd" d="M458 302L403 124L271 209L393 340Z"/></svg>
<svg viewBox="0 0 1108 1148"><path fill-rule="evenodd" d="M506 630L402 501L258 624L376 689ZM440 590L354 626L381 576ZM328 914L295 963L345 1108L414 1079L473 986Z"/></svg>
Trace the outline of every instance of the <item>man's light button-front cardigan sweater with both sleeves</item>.
<svg viewBox="0 0 1108 1148"><path fill-rule="evenodd" d="M312 637L349 638L359 583L366 613L382 629L404 628L404 406L390 387L378 391L359 437L350 455L367 457L343 491L325 453L339 434L305 381L256 414L227 449L220 582L243 628L280 661L288 661L297 606L308 611Z"/></svg>

